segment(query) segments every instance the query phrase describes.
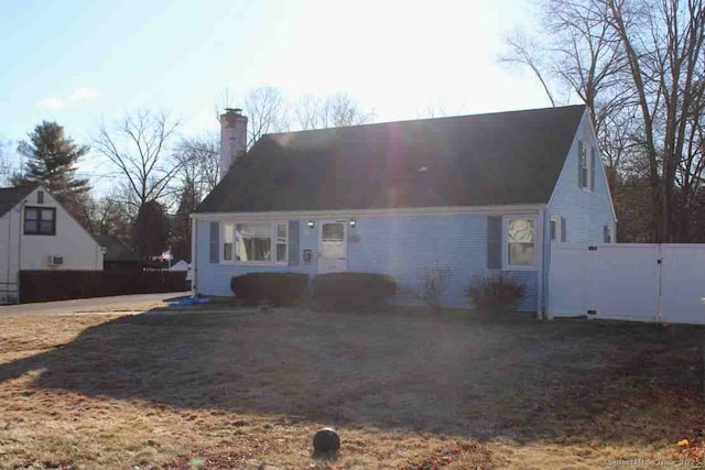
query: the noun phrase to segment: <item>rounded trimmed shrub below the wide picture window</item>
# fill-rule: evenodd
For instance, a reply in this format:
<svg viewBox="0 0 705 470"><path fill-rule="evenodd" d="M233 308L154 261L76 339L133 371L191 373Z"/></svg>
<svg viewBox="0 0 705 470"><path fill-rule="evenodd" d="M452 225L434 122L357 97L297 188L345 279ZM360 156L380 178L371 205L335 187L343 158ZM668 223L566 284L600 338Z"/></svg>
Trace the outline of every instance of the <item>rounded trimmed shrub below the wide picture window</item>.
<svg viewBox="0 0 705 470"><path fill-rule="evenodd" d="M230 289L247 305L293 305L306 292L308 274L249 273L230 280Z"/></svg>

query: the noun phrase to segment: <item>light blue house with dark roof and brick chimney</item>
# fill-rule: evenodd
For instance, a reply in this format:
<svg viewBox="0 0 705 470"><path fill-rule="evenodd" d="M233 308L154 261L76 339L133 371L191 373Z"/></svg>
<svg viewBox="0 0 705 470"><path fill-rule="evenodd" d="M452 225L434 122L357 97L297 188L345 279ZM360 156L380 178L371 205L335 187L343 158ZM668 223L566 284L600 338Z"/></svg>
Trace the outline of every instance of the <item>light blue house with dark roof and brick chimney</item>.
<svg viewBox="0 0 705 470"><path fill-rule="evenodd" d="M615 241L584 106L269 134L247 155L247 118L220 122L225 176L193 215L204 295L256 271L375 272L414 288L447 266L445 306L468 306L471 277L511 272L520 309L543 311L552 243Z"/></svg>

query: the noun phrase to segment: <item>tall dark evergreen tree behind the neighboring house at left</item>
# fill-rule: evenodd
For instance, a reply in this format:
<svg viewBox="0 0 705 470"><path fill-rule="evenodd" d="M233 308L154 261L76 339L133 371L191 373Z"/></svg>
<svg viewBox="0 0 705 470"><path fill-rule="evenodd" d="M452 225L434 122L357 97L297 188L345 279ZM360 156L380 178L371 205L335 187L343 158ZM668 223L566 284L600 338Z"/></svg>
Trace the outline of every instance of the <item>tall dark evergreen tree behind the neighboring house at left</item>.
<svg viewBox="0 0 705 470"><path fill-rule="evenodd" d="M68 206L90 189L88 179L75 176L78 160L88 153L87 145L77 145L64 134L63 125L50 121L37 124L28 136L29 141L18 145L18 152L28 159L24 174L14 175L12 185L39 183Z"/></svg>

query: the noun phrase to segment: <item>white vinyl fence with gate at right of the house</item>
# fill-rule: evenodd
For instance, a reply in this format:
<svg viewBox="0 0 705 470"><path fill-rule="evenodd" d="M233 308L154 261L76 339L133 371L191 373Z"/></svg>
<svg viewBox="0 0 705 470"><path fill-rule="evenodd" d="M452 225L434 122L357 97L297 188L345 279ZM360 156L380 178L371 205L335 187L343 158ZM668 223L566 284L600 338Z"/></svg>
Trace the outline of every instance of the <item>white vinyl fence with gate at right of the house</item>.
<svg viewBox="0 0 705 470"><path fill-rule="evenodd" d="M551 247L554 317L705 325L705 244L557 243Z"/></svg>

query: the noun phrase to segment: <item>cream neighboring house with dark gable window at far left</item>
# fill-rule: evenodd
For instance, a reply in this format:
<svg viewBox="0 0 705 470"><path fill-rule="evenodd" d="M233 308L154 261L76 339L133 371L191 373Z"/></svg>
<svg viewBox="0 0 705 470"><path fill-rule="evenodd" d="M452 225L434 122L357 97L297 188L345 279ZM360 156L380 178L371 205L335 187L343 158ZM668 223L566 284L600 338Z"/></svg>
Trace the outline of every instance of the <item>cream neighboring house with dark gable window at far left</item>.
<svg viewBox="0 0 705 470"><path fill-rule="evenodd" d="M100 245L42 186L0 188L0 303L20 270L102 270Z"/></svg>

